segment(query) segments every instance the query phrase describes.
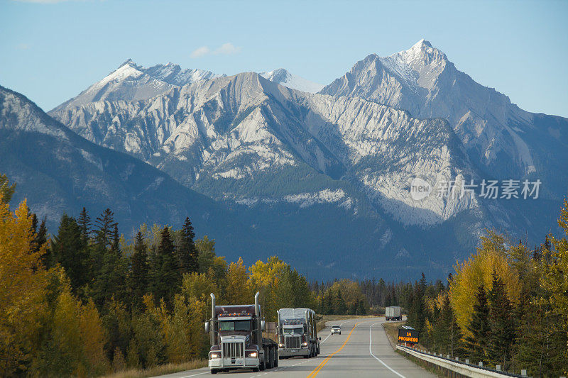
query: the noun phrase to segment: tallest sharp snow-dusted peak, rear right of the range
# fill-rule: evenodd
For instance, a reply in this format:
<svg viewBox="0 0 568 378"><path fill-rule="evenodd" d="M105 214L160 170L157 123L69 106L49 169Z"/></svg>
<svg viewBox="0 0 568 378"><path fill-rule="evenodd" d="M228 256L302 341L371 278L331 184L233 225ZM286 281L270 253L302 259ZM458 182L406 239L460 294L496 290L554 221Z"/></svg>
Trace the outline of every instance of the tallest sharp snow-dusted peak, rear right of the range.
<svg viewBox="0 0 568 378"><path fill-rule="evenodd" d="M368 55L320 93L371 99L418 118L444 118L471 160L496 177L542 178L551 163L561 167L559 162L568 157L565 118L523 111L508 96L457 70L427 40L388 57ZM547 145L563 152L560 160L543 158ZM553 191L558 196L566 189Z"/></svg>

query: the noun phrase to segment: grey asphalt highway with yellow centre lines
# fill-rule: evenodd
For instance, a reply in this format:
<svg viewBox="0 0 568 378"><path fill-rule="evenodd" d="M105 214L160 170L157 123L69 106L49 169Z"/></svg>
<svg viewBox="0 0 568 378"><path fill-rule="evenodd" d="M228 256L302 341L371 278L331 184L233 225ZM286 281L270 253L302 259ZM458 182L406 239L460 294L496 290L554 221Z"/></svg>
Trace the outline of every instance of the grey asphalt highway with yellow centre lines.
<svg viewBox="0 0 568 378"><path fill-rule="evenodd" d="M422 378L436 377L422 367L393 351L382 323L385 318L359 318L348 321L328 321L318 335L320 355L280 360L275 369L253 373L250 370L234 370L217 373L215 377L231 376L251 378L329 378L329 377L387 377ZM341 335L329 335L331 326L342 326ZM189 378L211 374L208 368L187 370L163 375L166 378ZM237 374L237 375L234 375Z"/></svg>

